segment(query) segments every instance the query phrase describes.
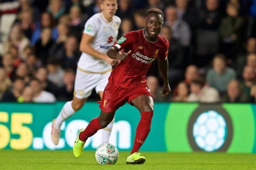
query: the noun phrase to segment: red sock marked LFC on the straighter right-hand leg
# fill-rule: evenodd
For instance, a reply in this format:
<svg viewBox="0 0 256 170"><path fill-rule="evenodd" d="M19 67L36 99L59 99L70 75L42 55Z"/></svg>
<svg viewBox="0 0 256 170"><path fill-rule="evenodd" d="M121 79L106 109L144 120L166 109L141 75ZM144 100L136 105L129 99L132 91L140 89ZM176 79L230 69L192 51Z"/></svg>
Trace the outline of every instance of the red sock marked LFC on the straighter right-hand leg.
<svg viewBox="0 0 256 170"><path fill-rule="evenodd" d="M153 112L142 112L140 113L141 118L140 122L136 129L134 146L131 150L131 153L138 152L141 145L144 143L145 139L148 136L151 127L151 121L153 117Z"/></svg>

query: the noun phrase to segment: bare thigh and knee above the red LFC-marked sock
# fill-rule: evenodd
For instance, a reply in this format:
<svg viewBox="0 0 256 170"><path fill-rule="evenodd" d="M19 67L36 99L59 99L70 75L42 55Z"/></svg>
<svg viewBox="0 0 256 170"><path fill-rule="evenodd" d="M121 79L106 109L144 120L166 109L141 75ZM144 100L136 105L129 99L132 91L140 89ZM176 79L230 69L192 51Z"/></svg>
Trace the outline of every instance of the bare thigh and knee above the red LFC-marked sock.
<svg viewBox="0 0 256 170"><path fill-rule="evenodd" d="M149 111L149 112L154 111L153 98L148 95L137 96L136 98L131 100L131 104L135 108L137 108L140 111L140 113L145 111Z"/></svg>

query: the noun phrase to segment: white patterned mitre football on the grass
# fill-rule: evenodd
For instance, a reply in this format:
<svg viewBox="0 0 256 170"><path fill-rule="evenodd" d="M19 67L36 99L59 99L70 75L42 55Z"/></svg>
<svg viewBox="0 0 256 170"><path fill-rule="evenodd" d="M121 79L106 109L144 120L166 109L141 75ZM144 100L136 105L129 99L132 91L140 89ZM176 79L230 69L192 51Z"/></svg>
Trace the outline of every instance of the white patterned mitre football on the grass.
<svg viewBox="0 0 256 170"><path fill-rule="evenodd" d="M97 147L95 157L99 164L115 164L119 157L119 152L113 144L105 143Z"/></svg>

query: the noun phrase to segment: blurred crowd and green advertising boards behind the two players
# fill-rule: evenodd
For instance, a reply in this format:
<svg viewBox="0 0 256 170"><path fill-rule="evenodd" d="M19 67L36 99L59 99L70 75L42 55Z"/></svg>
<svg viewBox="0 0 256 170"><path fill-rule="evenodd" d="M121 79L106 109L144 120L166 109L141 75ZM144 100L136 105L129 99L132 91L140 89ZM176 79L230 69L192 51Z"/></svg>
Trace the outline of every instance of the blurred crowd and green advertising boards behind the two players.
<svg viewBox="0 0 256 170"><path fill-rule="evenodd" d="M72 131L98 115L95 101L99 98L94 93L91 102L65 122L60 144L55 147L50 143L49 122L60 111L63 105L60 101L72 99L84 23L99 12L99 2L1 0L0 149L70 149L73 143L70 140L76 136ZM170 41L168 59L172 94L161 97L162 80L155 62L148 73L148 86L157 103L152 130L142 150L256 153L256 105L253 104L256 99L256 1L188 0L185 5L182 2L119 0L116 13L122 19L119 37L143 28L146 10L157 7L165 12L167 33L161 34ZM231 13L236 10L239 13L230 16L226 8ZM212 68L213 57L220 53L226 57L221 60L224 63L222 72L227 75L226 81L222 82L218 81L221 76L218 77L217 68ZM210 72L217 78L211 77ZM30 83L32 77L42 82L37 85L39 92ZM189 103L189 95L198 95L189 89L190 83L198 77L206 79L205 89L217 91L218 99L214 102L224 103ZM239 85L229 87L232 79ZM34 96L42 91L47 91L49 96L36 99ZM198 97L198 102L206 101ZM209 126L217 123L218 127L207 131L207 122L198 122L205 126L198 133L205 142L202 143L197 141L195 122L209 111L214 111ZM117 112L111 140L120 150L131 149L138 120L139 114L129 105ZM219 124L221 133L218 133ZM207 135L213 136L207 138ZM88 150L99 145L99 136L88 142ZM212 140L216 142L212 144ZM218 140L222 142L215 146ZM207 147L207 144L214 146Z"/></svg>

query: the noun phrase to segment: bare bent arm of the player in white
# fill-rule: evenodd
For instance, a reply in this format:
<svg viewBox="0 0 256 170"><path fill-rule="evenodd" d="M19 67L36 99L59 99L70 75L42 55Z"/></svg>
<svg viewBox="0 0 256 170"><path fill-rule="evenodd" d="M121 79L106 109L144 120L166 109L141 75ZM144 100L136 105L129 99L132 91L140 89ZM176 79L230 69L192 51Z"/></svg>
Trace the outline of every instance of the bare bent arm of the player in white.
<svg viewBox="0 0 256 170"><path fill-rule="evenodd" d="M116 61L113 59L110 59L106 54L100 53L99 51L96 51L91 45L90 42L93 40L94 36L91 36L89 34L84 33L80 42L80 51L99 58L103 59L106 62L110 63L111 65L115 65Z"/></svg>

